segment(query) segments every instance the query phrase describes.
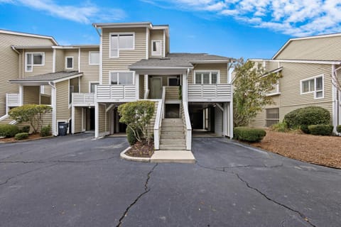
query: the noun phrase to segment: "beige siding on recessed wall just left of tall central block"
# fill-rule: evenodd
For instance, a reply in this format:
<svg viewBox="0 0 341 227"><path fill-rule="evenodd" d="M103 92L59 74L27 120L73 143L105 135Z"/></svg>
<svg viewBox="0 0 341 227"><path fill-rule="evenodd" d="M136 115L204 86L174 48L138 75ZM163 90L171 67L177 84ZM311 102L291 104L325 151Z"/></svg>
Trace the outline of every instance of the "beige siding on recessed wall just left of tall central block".
<svg viewBox="0 0 341 227"><path fill-rule="evenodd" d="M89 52L98 51L99 48L80 49L80 93L90 93L89 82L99 82L99 65L89 65Z"/></svg>

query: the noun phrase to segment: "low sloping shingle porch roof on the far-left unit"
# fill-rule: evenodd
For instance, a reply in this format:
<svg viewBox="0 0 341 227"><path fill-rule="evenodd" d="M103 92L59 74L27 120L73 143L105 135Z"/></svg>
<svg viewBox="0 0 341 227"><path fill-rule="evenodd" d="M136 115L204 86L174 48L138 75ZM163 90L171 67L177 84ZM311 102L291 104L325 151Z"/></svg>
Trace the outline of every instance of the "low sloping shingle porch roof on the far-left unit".
<svg viewBox="0 0 341 227"><path fill-rule="evenodd" d="M12 79L11 82L53 82L58 79L63 79L67 77L72 77L77 74L82 74L82 72L78 71L62 71L62 72L51 72L46 74L40 74L32 77L25 77L23 79Z"/></svg>

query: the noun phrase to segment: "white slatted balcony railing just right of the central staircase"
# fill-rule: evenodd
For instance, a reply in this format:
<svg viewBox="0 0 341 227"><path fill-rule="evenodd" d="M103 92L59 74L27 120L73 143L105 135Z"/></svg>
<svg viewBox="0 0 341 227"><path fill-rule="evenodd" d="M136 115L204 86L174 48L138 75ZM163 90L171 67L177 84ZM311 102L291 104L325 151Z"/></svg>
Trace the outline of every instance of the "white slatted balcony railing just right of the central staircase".
<svg viewBox="0 0 341 227"><path fill-rule="evenodd" d="M188 101L231 101L231 84L188 84Z"/></svg>

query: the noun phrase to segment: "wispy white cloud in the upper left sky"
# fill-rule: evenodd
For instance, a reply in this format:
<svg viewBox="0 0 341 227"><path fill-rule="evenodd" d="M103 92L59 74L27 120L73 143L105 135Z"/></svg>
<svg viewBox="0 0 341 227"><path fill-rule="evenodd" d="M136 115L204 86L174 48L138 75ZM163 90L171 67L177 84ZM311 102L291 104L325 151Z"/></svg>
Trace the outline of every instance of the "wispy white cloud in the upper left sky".
<svg viewBox="0 0 341 227"><path fill-rule="evenodd" d="M0 3L26 6L31 9L48 13L51 16L79 23L118 21L126 16L121 9L101 8L90 2L80 6L57 4L53 0L0 0Z"/></svg>

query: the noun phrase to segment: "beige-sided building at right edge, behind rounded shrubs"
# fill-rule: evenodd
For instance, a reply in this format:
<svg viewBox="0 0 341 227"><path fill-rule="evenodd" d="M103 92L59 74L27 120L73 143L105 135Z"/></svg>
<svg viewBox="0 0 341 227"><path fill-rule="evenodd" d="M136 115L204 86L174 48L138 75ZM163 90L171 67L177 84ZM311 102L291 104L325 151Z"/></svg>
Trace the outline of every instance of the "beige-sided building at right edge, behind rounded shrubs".
<svg viewBox="0 0 341 227"><path fill-rule="evenodd" d="M340 74L340 45L340 33L293 38L271 60L252 60L265 66L266 71L277 70L283 76L269 94L274 104L266 106L252 125L271 126L290 111L305 106L328 109L332 124L340 124L340 92L332 84L332 77Z"/></svg>

